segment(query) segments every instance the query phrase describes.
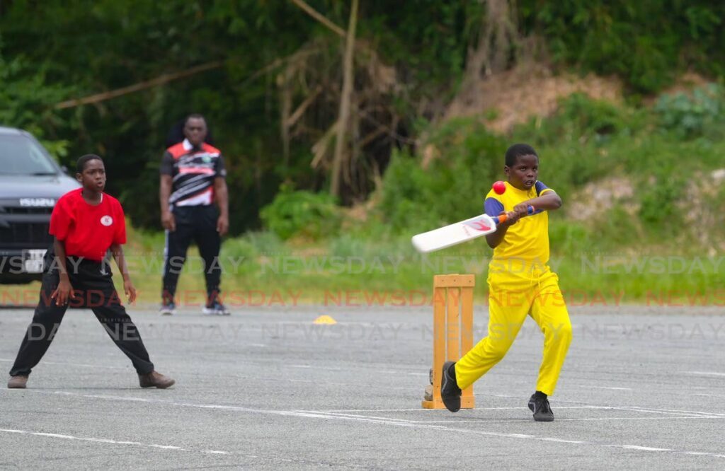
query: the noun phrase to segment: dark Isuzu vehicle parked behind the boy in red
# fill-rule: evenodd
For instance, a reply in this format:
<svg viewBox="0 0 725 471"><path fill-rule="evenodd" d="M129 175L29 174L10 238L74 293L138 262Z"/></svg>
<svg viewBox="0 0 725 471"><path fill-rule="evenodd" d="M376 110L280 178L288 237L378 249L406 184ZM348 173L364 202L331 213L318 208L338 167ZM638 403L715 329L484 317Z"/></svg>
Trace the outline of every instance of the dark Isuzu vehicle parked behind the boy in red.
<svg viewBox="0 0 725 471"><path fill-rule="evenodd" d="M79 186L30 133L0 127L0 283L41 279L50 214Z"/></svg>

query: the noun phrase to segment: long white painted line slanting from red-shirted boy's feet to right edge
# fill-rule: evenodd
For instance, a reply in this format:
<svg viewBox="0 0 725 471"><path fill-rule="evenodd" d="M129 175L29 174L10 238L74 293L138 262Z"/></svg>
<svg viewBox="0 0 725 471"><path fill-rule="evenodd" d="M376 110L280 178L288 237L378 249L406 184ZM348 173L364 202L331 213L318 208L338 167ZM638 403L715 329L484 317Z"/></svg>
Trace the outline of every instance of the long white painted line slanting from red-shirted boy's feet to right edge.
<svg viewBox="0 0 725 471"><path fill-rule="evenodd" d="M3 391L3 390L0 390L0 391ZM426 429L426 430L444 430L444 431L448 431L448 432L468 433L468 434L473 434L473 435L484 435L484 436L491 436L491 437L497 437L497 438L515 438L518 440L552 441L552 437L539 437L537 435L523 435L521 433L501 433L501 432L489 432L487 430L472 430L472 429L465 429L465 428L445 427L443 425L431 425L431 424L416 423L416 422L405 421L405 420L400 420L400 419L390 419L388 417L384 417L383 419L376 419L376 418L370 418L370 417L365 417L365 416L345 417L343 415L324 414L324 413L320 413L320 412L303 412L303 411L295 411L295 410L274 410L274 409L253 409L251 407L223 406L223 405L218 405L218 404L190 404L190 403L184 403L184 402L164 401L161 399L142 399L142 398L134 398L134 397L102 396L99 394L69 393L67 391L55 391L55 392L33 391L32 389L30 389L30 390L26 389L24 391L31 392L31 393L62 394L65 396L78 396L78 397L87 397L87 398L92 398L92 399L106 399L106 400L117 400L117 401L142 401L142 402L166 404L169 406L194 407L197 409L234 410L234 411L239 411L239 412L248 412L251 414L269 414L269 415L278 415L278 416L282 416L282 417L307 417L307 418L324 419L324 420L352 420L355 422L370 422L370 423L377 423L377 424L383 424L383 425L395 425L397 427L421 428L421 429ZM645 411L645 409L638 409L638 410ZM674 417L671 417L671 418L674 418ZM708 417L703 417L703 418L708 418ZM712 418L717 418L717 417L712 417ZM0 429L0 430L2 430L2 429ZM599 443L599 442L594 442L594 441L561 441L560 443L571 443L571 444L587 445L587 446L605 446L608 448L630 449L630 450L636 450L636 451L662 451L662 452L666 451L671 454L687 454L687 455L700 456L700 457L725 458L725 454L712 453L709 451L655 449L653 447L642 446L642 445Z"/></svg>

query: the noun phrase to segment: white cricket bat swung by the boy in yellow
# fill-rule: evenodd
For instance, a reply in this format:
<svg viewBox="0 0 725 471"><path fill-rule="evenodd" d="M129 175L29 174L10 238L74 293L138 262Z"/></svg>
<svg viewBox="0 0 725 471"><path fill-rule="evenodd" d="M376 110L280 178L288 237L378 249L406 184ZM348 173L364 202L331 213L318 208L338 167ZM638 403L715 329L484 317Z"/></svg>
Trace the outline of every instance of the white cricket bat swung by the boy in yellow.
<svg viewBox="0 0 725 471"><path fill-rule="evenodd" d="M528 214L534 214L534 212L534 207L529 206ZM494 217L481 214L465 221L416 234L412 239L413 246L423 253L445 249L496 232L497 225L507 219L508 216L505 213Z"/></svg>

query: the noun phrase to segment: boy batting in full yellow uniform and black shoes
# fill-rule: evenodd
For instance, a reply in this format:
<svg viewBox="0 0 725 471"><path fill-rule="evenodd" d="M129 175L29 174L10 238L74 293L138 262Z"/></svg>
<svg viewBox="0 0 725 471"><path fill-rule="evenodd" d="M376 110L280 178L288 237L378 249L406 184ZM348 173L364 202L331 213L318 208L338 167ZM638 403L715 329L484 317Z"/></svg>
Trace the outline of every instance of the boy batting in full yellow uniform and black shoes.
<svg viewBox="0 0 725 471"><path fill-rule="evenodd" d="M549 261L549 217L561 199L537 180L539 157L531 146L515 144L506 151L505 191L490 191L486 214L508 213L496 232L486 235L494 249L489 264L489 335L458 362L443 366L441 396L448 410L460 409L461 389L468 388L505 356L530 315L544 333L544 357L536 392L529 399L534 420L550 422L554 414L547 396L554 393L566 351L571 343L571 322L559 278ZM527 216L533 206L536 213ZM526 217L524 217L526 216Z"/></svg>

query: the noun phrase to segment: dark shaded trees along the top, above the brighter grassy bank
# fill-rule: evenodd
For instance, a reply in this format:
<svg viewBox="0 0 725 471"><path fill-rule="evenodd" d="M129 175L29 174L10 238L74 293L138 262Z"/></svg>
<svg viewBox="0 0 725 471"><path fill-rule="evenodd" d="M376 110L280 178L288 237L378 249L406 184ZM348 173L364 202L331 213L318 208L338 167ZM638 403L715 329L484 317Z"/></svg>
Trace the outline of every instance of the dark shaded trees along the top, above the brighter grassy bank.
<svg viewBox="0 0 725 471"><path fill-rule="evenodd" d="M308 3L347 27L349 2ZM466 74L500 72L526 57L559 70L618 75L633 93L660 91L689 70L723 75L725 4L497 3L505 8L465 0L364 2L347 149L352 168L341 203L368 198L394 151L414 153L411 143L426 122L442 117ZM0 122L27 128L70 168L78 155L101 154L112 175L109 192L130 208L135 225L157 230L158 205L147 196L157 187L165 138L186 114L203 112L227 159L231 230L240 234L261 227L260 209L280 183L327 188L324 149L334 146L324 136L339 111L341 42L291 1L3 2ZM210 68L94 104L54 107L201 64ZM281 130L283 117L308 99L305 112ZM671 109L663 120L687 134L702 132L712 112L678 117L676 103L663 106Z"/></svg>

